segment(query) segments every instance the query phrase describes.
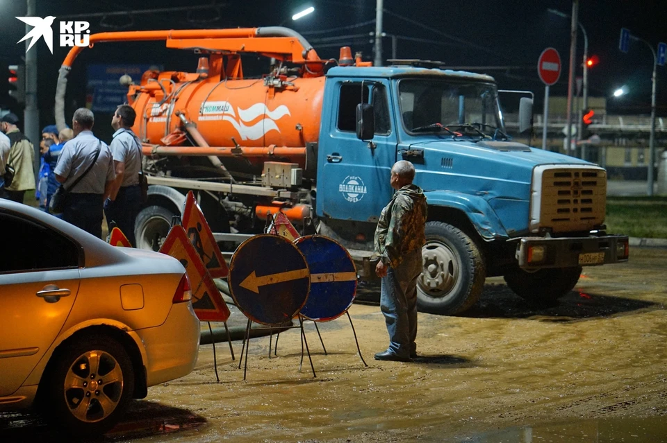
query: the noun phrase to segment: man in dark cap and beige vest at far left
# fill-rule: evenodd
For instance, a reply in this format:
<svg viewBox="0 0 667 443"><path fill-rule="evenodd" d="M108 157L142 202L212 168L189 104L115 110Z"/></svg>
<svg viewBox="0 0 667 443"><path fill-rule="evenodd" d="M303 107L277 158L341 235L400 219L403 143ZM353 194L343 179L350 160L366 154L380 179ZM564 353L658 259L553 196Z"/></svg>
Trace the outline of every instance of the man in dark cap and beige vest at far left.
<svg viewBox="0 0 667 443"><path fill-rule="evenodd" d="M17 128L19 118L9 113L0 119L0 130L9 137L11 148L7 163L13 166L14 180L9 186L4 186L7 198L22 203L28 189L35 189L35 150L30 140Z"/></svg>

